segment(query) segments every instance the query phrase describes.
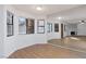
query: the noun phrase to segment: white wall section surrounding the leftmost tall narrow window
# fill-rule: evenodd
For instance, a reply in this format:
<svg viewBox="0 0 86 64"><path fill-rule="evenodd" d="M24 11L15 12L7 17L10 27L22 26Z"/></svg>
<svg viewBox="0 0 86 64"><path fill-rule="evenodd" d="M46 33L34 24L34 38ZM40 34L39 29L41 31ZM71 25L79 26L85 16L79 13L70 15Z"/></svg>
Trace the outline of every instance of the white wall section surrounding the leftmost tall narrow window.
<svg viewBox="0 0 86 64"><path fill-rule="evenodd" d="M15 10L9 5L4 5L4 57L16 50L17 42L17 16L14 14L14 36L7 37L7 10L15 13Z"/></svg>

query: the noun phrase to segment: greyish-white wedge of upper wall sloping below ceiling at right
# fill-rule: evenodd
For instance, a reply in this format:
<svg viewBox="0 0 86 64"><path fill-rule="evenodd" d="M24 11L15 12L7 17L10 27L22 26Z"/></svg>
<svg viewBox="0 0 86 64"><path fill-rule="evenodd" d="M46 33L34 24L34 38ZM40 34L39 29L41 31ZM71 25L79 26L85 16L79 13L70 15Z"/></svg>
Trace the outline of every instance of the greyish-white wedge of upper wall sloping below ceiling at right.
<svg viewBox="0 0 86 64"><path fill-rule="evenodd" d="M78 8L61 11L59 13L50 14L49 17L63 17L65 22L72 23L71 20L83 20L86 18L86 5L82 5Z"/></svg>

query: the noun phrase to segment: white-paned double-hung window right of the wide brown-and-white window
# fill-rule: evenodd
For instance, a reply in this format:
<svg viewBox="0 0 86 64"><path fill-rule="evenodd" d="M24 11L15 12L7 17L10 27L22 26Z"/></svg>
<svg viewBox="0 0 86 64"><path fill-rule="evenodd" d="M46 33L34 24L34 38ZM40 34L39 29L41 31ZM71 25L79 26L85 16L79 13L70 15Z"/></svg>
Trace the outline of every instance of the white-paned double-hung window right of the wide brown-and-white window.
<svg viewBox="0 0 86 64"><path fill-rule="evenodd" d="M37 22L37 33L38 34L45 34L45 21L38 20Z"/></svg>

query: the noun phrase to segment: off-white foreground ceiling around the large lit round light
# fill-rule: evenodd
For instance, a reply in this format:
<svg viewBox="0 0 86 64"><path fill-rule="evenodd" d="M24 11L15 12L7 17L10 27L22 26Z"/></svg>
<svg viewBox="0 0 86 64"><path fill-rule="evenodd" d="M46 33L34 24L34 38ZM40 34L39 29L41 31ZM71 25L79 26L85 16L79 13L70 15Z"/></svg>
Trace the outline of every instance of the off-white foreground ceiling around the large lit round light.
<svg viewBox="0 0 86 64"><path fill-rule="evenodd" d="M77 8L79 7L79 4L15 4L13 7L21 11L35 14L35 15L49 15L49 14L58 13L69 9ZM37 7L41 7L42 10L37 11L36 10Z"/></svg>

